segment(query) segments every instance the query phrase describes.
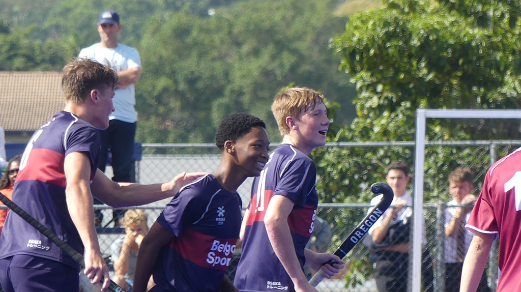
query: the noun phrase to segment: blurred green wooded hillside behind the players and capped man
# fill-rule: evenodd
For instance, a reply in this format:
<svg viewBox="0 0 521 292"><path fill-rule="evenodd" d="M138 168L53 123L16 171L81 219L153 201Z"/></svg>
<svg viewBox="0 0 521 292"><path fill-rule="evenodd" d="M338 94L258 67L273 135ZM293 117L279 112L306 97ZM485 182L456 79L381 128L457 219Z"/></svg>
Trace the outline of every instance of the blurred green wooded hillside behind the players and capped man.
<svg viewBox="0 0 521 292"><path fill-rule="evenodd" d="M354 117L354 86L328 48L347 20L332 16L336 2L6 0L0 3L1 66L58 71L99 41L98 14L115 9L123 26L119 41L138 49L144 69L136 85L138 141L213 142L220 119L247 111L268 122L276 142L269 107L290 83L342 105L336 122Z"/></svg>

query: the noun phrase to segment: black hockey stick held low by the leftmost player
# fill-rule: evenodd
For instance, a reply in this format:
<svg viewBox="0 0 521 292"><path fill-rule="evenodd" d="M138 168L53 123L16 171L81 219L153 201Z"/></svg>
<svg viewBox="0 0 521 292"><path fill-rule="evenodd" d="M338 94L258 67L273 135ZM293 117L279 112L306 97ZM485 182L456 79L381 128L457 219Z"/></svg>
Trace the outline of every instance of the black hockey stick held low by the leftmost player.
<svg viewBox="0 0 521 292"><path fill-rule="evenodd" d="M4 203L7 208L11 209L11 211L15 212L17 215L19 215L23 220L25 220L27 223L29 223L31 226L36 228L41 234L43 234L45 237L50 239L55 245L57 245L61 250L63 250L69 257L71 257L73 260L75 260L83 269L85 268L85 260L83 259L83 256L76 251L76 249L73 249L70 245L65 243L63 240L58 238L56 234L54 234L51 230L49 230L47 227L43 226L42 223L36 221L29 213L24 211L22 208L20 208L18 205L15 204L15 202L11 201L8 197L6 197L4 194L0 193L0 201ZM125 292L123 288L118 286L114 281L110 280L110 284L108 285L108 291L110 292Z"/></svg>

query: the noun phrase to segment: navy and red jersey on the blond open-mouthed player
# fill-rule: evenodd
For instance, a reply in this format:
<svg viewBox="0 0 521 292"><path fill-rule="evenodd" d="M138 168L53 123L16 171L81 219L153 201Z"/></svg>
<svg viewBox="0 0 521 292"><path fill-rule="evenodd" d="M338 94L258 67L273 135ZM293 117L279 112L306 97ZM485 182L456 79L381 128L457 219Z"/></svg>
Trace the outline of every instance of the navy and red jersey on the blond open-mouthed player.
<svg viewBox="0 0 521 292"><path fill-rule="evenodd" d="M249 214L243 219L246 228L234 282L240 291L294 290L289 275L271 247L264 225L264 215L272 196L285 196L295 203L288 223L302 268L304 249L313 232L318 205L315 163L289 144L278 146L269 157L261 175L254 179Z"/></svg>

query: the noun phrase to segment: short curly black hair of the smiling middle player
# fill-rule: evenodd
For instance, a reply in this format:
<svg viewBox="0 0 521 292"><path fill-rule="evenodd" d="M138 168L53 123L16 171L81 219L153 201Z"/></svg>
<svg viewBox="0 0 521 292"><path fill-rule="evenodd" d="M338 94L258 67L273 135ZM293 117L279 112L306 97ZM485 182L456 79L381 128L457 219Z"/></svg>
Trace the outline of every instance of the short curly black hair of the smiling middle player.
<svg viewBox="0 0 521 292"><path fill-rule="evenodd" d="M224 151L226 141L237 142L238 139L250 133L255 126L262 126L266 129L266 124L263 120L249 113L232 113L222 119L219 124L219 128L217 128L215 133L215 145L217 145L219 150Z"/></svg>

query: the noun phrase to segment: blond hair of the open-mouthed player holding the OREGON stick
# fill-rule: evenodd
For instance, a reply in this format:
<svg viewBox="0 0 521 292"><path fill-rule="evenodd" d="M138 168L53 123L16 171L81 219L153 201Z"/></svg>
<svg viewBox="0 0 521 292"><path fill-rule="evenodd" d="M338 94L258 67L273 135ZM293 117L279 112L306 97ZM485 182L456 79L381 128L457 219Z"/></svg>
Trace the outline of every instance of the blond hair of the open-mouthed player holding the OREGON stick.
<svg viewBox="0 0 521 292"><path fill-rule="evenodd" d="M290 132L286 124L287 117L299 119L302 112L321 103L324 103L324 95L307 87L287 88L277 94L271 105L271 112L275 116L280 134L284 136Z"/></svg>

